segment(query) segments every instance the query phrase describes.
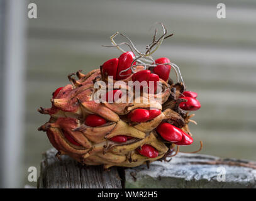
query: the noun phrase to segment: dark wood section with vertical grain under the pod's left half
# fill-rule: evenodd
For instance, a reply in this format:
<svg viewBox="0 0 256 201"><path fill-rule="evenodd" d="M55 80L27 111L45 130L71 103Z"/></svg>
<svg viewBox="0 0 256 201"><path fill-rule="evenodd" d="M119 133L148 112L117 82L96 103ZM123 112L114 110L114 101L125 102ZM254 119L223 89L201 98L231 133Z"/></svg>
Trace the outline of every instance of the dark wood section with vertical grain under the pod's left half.
<svg viewBox="0 0 256 201"><path fill-rule="evenodd" d="M39 188L121 188L116 168L104 171L101 166L82 167L69 156L55 157L56 149L43 154Z"/></svg>

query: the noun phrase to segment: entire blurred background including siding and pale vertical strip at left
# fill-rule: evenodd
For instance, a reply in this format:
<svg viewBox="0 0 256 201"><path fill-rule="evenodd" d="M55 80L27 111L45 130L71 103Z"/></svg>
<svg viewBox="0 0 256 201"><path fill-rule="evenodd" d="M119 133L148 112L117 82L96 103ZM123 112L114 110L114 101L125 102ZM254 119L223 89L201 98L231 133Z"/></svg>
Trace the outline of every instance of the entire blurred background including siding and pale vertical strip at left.
<svg viewBox="0 0 256 201"><path fill-rule="evenodd" d="M30 3L36 19L28 18ZM226 19L216 17L218 3ZM202 104L198 126L191 124L195 142L182 151L202 140L202 154L256 160L256 1L0 0L1 187L36 187L28 168L39 176L42 153L52 147L37 131L49 117L37 109L51 106L67 75L118 57L116 48L101 46L116 31L145 50L156 22L174 36L153 58L176 63Z"/></svg>

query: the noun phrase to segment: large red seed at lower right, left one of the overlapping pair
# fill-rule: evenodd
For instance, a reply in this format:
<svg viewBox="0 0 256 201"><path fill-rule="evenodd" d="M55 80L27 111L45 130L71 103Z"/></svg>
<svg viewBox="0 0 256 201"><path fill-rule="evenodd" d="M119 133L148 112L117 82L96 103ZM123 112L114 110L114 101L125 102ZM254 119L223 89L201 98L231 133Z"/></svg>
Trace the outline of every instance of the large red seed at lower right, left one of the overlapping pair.
<svg viewBox="0 0 256 201"><path fill-rule="evenodd" d="M182 130L169 124L167 122L162 122L157 126L157 133L162 136L167 141L170 142L179 142L182 139Z"/></svg>

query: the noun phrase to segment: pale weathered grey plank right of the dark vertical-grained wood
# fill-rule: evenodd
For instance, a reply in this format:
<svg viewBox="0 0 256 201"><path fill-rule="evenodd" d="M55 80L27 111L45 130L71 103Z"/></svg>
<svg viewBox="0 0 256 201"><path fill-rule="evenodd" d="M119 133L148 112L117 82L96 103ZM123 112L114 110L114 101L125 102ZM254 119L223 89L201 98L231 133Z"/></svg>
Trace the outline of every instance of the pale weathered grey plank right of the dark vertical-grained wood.
<svg viewBox="0 0 256 201"><path fill-rule="evenodd" d="M170 162L154 161L149 169L126 169L125 188L256 188L255 169L255 161L179 153Z"/></svg>

